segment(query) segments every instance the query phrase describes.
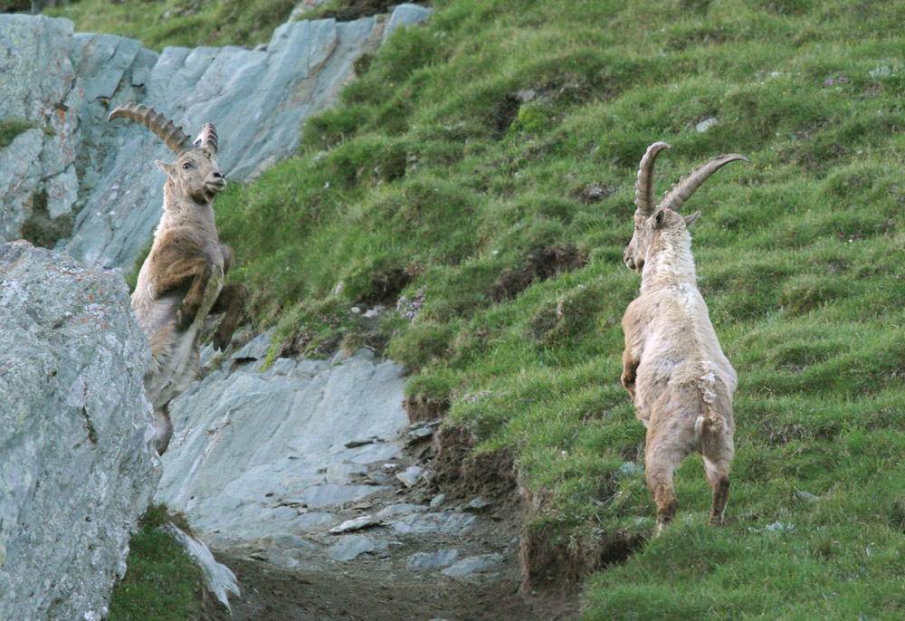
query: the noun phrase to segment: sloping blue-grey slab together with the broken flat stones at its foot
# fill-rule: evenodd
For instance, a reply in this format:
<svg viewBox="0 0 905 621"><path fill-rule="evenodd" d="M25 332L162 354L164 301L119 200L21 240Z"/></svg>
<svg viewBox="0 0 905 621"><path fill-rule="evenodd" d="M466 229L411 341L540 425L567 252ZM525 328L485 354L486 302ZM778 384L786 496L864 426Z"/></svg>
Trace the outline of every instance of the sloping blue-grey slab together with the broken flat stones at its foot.
<svg viewBox="0 0 905 621"><path fill-rule="evenodd" d="M223 358L203 351L214 370L170 404L155 501L227 557L515 584L518 540L499 505L427 495L417 454L438 423L409 424L403 368L367 349L264 368L270 337Z"/></svg>

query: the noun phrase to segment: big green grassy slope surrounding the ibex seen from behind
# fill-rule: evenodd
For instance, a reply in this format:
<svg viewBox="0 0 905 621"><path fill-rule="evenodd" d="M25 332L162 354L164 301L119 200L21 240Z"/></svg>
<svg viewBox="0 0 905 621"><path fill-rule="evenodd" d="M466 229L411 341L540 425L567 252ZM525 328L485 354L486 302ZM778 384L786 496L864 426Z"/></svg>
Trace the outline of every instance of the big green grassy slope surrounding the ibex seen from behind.
<svg viewBox="0 0 905 621"><path fill-rule="evenodd" d="M659 139L661 189L741 152L751 164L688 205L739 376L733 521L706 526L691 457L677 523L588 580L585 616L900 618L905 5L434 5L361 63L298 158L219 199L259 323L352 346L353 304L412 279L405 295L424 301L387 323L388 351L481 448L517 450L543 499L535 534L576 550L646 536L643 474L619 470L643 443L618 380L634 172ZM529 87L546 94L519 106ZM585 205L592 183L606 197ZM586 267L494 301L501 274L554 244Z"/></svg>

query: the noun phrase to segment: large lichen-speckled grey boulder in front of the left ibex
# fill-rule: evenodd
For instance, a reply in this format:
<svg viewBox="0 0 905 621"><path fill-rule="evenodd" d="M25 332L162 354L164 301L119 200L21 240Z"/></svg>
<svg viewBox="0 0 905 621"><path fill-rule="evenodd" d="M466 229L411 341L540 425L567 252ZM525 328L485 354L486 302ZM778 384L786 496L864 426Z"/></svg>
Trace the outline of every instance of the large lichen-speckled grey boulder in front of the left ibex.
<svg viewBox="0 0 905 621"><path fill-rule="evenodd" d="M106 615L160 476L119 275L0 245L0 618Z"/></svg>

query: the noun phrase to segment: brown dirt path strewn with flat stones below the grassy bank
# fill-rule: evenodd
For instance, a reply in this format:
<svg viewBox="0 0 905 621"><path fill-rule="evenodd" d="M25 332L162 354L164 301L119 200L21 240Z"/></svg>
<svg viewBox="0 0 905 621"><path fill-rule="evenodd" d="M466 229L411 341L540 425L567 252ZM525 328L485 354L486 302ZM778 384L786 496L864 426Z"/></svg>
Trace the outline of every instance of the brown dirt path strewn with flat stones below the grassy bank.
<svg viewBox="0 0 905 621"><path fill-rule="evenodd" d="M372 514L375 509L424 507L424 492L405 489L393 495L369 499L344 517ZM281 568L261 549L217 550L218 560L233 570L242 597L232 598L233 616L213 597L207 599L200 618L212 621L507 621L568 619L578 606L574 591L520 597L518 521L511 507L493 507L479 513L447 509L449 515L470 522L466 532L443 534L391 534L390 525L357 530L358 537L377 541L375 550L355 559L330 559L322 552L331 541L348 535L314 534L300 568ZM407 513L429 521L439 511ZM379 512L379 511L377 511ZM506 513L505 517L501 514ZM398 514L396 514L398 515ZM449 517L444 518L449 520ZM385 540L386 546L380 545ZM322 542L323 545L318 545ZM424 559L431 551L456 550L457 559L487 559L491 566L462 576L443 574L443 567L415 568L412 559ZM421 556L418 556L421 555ZM499 560L499 564L495 561ZM283 560L284 562L284 560ZM454 564L453 564L454 565ZM452 567L448 565L447 568Z"/></svg>

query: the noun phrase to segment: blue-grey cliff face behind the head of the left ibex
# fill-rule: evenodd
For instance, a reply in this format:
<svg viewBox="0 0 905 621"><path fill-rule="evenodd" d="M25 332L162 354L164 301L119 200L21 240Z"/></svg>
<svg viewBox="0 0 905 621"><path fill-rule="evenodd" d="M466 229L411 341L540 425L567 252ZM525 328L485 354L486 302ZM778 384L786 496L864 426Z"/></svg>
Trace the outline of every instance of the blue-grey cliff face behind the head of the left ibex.
<svg viewBox="0 0 905 621"><path fill-rule="evenodd" d="M136 124L108 123L129 100L186 131L211 121L231 180L260 173L300 144L304 119L332 105L353 64L389 33L430 14L283 24L263 49L168 47L156 53L110 34L73 33L65 19L0 15L0 120L31 124L0 149L0 242L23 228L90 266L131 266L157 225L172 155Z"/></svg>

